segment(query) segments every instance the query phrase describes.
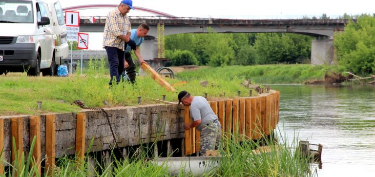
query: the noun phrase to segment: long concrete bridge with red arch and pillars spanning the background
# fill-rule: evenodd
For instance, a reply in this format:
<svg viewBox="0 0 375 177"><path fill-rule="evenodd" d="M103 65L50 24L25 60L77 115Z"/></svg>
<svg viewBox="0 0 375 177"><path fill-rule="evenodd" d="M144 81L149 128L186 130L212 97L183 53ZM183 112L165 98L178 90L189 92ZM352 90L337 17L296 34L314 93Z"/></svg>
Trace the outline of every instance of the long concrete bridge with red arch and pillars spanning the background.
<svg viewBox="0 0 375 177"><path fill-rule="evenodd" d="M82 10L89 8L116 7L117 4L94 4L64 8L63 10ZM155 43L157 38L157 25L164 24L164 34L173 35L180 33L208 33L208 28L217 33L294 33L315 37L312 41L312 64L330 64L333 61L333 36L337 31L343 31L347 19L289 19L289 20L234 20L234 19L205 19L205 18L184 18L175 17L160 11L135 7L155 14L148 17L130 17L132 28L141 23L150 26L148 40L142 44L142 55L145 59L157 58ZM103 32L106 17L95 17L95 23L89 18L81 17L81 32ZM354 20L355 21L355 20Z"/></svg>

